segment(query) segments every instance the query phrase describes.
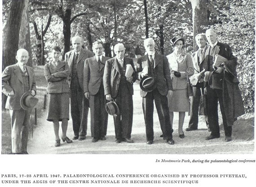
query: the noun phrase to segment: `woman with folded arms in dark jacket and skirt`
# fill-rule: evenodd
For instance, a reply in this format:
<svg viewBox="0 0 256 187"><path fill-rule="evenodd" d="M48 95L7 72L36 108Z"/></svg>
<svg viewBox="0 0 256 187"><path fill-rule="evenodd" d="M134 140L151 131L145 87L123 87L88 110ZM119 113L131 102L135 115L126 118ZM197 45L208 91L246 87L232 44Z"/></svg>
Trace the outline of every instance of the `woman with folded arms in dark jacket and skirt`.
<svg viewBox="0 0 256 187"><path fill-rule="evenodd" d="M59 121L62 122L62 141L72 143L66 136L69 120L69 77L68 64L60 60L61 48L56 46L52 50L52 61L45 64L44 76L48 81L48 114L47 121L53 122L55 133L55 147L60 146Z"/></svg>

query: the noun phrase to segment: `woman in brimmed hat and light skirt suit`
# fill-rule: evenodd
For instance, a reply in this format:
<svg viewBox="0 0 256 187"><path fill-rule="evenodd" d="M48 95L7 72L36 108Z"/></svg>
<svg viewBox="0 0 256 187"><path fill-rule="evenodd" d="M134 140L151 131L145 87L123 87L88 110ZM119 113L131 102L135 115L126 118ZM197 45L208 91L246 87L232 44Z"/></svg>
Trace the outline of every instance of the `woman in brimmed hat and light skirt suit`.
<svg viewBox="0 0 256 187"><path fill-rule="evenodd" d="M189 96L187 90L187 76L194 74L194 66L190 54L182 49L185 46L185 38L176 36L170 40L174 51L167 55L171 71L173 94L168 97L171 125L173 123L173 112L179 112L178 132L180 138L184 138L183 123L185 112L190 110Z"/></svg>

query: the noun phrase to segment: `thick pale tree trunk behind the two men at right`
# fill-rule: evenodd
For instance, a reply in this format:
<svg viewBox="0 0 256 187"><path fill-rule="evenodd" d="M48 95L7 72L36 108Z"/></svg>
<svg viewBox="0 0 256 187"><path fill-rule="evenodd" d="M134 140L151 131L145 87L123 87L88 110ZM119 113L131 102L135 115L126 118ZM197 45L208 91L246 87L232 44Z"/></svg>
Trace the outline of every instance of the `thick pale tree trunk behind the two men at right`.
<svg viewBox="0 0 256 187"><path fill-rule="evenodd" d="M207 4L205 0L191 0L192 20L193 20L193 50L197 50L195 36L199 33L205 33L201 26L208 25Z"/></svg>

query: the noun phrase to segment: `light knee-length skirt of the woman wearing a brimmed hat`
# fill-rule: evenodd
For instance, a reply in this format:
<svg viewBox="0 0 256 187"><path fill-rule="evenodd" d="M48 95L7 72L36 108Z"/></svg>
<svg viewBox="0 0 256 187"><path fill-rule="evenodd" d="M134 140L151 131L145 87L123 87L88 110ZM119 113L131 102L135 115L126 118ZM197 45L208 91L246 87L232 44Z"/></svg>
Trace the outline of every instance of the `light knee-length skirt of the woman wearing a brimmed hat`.
<svg viewBox="0 0 256 187"><path fill-rule="evenodd" d="M170 112L188 112L190 110L187 89L175 89L172 97L167 97Z"/></svg>

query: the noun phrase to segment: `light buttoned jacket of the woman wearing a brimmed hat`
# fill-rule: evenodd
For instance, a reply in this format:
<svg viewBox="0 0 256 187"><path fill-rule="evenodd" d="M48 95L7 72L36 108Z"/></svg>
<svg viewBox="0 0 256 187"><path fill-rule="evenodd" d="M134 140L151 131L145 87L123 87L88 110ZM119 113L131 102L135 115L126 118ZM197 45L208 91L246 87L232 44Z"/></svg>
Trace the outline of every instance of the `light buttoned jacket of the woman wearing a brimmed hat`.
<svg viewBox="0 0 256 187"><path fill-rule="evenodd" d="M171 71L172 78L172 88L173 89L186 89L187 88L187 77L186 72L188 72L188 76L192 76L194 74L194 67L191 55L181 51L181 55L179 59L176 59L174 56L174 52L170 55L167 55L167 59L169 62L169 67ZM173 69L174 64L177 63L177 69ZM177 71L181 73L180 77L174 75L173 71Z"/></svg>

